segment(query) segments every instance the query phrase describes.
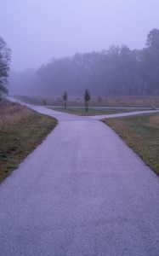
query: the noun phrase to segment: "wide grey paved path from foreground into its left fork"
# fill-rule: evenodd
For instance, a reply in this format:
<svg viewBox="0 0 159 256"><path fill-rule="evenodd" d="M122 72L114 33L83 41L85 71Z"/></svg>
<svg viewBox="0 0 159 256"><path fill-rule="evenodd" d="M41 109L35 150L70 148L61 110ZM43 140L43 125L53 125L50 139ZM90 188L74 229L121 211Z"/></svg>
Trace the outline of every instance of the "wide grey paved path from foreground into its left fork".
<svg viewBox="0 0 159 256"><path fill-rule="evenodd" d="M103 123L32 108L60 122L0 185L0 255L159 255L158 177Z"/></svg>

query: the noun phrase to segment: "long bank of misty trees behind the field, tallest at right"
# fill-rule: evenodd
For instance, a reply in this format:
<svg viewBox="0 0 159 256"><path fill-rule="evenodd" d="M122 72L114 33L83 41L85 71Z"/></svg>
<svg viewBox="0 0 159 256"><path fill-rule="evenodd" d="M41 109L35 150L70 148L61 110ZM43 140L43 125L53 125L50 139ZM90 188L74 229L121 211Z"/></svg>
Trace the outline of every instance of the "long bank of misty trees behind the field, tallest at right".
<svg viewBox="0 0 159 256"><path fill-rule="evenodd" d="M159 95L159 30L147 36L144 49L122 45L108 50L53 59L37 70L39 88L53 95L67 90L94 96Z"/></svg>

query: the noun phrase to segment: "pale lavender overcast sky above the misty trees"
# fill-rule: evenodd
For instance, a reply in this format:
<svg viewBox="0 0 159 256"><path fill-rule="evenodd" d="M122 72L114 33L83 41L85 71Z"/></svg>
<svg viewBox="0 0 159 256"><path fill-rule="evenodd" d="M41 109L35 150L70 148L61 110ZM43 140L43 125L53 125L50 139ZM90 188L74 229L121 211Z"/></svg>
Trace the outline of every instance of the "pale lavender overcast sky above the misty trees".
<svg viewBox="0 0 159 256"><path fill-rule="evenodd" d="M0 36L16 71L112 44L140 49L152 28L159 0L0 0Z"/></svg>

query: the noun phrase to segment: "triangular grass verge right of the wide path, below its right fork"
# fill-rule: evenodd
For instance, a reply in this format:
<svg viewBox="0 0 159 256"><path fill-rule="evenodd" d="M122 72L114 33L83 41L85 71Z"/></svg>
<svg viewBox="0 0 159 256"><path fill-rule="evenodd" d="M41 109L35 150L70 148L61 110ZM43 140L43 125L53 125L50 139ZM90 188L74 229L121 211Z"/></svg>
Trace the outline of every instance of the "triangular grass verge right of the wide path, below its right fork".
<svg viewBox="0 0 159 256"><path fill-rule="evenodd" d="M159 175L158 113L103 121Z"/></svg>

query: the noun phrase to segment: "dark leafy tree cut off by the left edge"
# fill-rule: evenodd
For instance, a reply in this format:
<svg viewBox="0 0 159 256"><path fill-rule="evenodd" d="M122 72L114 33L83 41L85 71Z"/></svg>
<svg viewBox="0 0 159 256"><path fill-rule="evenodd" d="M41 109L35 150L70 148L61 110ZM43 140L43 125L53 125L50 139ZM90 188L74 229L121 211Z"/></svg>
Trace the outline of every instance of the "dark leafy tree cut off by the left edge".
<svg viewBox="0 0 159 256"><path fill-rule="evenodd" d="M9 77L10 49L0 38L0 94L8 93L7 79Z"/></svg>

